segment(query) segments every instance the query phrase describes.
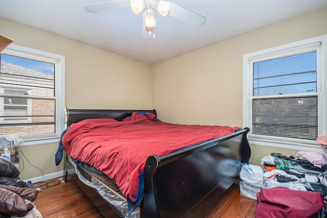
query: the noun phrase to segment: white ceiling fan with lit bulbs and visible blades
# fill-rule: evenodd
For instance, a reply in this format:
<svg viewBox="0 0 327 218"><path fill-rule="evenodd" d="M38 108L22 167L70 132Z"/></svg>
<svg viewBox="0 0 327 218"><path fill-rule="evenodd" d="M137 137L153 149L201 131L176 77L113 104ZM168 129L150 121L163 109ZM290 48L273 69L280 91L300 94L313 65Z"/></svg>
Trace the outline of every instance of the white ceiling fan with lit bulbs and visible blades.
<svg viewBox="0 0 327 218"><path fill-rule="evenodd" d="M142 39L155 38L154 8L162 16L167 16L169 14L173 17L176 17L177 19L189 23L194 27L203 26L206 20L205 17L197 13L194 13L188 9L175 5L174 3L167 2L165 0L113 0L84 6L85 10L91 13L98 13L126 7L131 7L135 14L139 14L146 9L143 14Z"/></svg>

